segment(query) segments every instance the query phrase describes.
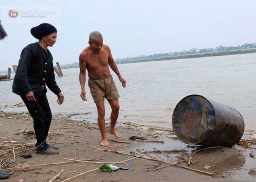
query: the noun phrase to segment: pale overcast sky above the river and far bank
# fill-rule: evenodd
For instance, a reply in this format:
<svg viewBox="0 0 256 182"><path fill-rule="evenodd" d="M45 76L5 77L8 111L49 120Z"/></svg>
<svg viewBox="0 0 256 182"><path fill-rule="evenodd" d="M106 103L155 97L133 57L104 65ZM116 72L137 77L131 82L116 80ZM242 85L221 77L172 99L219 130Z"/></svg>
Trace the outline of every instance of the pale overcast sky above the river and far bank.
<svg viewBox="0 0 256 182"><path fill-rule="evenodd" d="M0 0L0 3L5 9L15 9L13 5L62 7L55 12L62 18L57 23L39 18L38 23L8 23L9 20L0 17L8 34L0 41L0 70L17 65L21 50L37 42L30 29L40 23L51 23L57 28L58 42L49 50L54 63L60 64L78 62L79 54L88 46L89 33L95 30L102 33L114 59L256 42L256 0Z"/></svg>

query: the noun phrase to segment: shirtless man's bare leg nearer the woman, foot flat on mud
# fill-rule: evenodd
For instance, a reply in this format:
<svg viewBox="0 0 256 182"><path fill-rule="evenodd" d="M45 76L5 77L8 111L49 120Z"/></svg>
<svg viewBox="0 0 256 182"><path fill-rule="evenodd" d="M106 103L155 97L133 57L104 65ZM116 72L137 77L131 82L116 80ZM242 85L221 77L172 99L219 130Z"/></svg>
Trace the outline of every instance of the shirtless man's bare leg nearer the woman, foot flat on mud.
<svg viewBox="0 0 256 182"><path fill-rule="evenodd" d="M98 125L101 133L101 143L102 146L109 146L106 135L106 126L105 126L105 106L104 100L96 102L97 111L98 111Z"/></svg>

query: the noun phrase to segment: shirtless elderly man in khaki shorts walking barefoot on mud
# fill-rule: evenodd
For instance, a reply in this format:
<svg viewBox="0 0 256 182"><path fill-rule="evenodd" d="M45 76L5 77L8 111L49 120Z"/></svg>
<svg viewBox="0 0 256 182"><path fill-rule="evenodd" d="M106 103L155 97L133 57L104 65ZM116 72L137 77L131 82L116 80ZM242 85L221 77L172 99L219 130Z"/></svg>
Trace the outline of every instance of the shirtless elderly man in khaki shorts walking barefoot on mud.
<svg viewBox="0 0 256 182"><path fill-rule="evenodd" d="M82 89L80 96L84 101L87 101L85 91L85 70L87 69L89 77L88 85L98 111L98 124L102 136L100 145L102 146L109 146L105 132L104 98L107 99L112 109L109 133L115 135L116 138L121 137L121 134L117 133L115 130L119 115L119 93L116 89L113 77L110 75L109 66L119 77L122 86L125 88L126 81L121 76L109 47L103 44L101 33L97 31L91 32L89 35L89 46L86 47L79 56L79 81Z"/></svg>

